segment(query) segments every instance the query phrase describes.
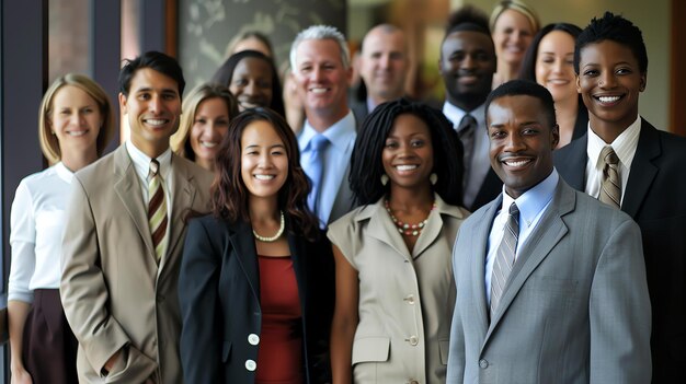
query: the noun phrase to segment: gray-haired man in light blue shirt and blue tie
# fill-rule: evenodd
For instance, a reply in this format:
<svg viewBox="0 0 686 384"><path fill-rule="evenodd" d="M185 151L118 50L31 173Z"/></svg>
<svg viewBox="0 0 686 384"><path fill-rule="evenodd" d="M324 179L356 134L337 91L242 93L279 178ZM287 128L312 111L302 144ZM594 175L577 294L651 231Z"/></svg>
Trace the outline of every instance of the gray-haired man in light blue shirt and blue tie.
<svg viewBox="0 0 686 384"><path fill-rule="evenodd" d="M298 146L312 182L308 206L324 228L354 207L347 174L356 133L347 106L353 72L345 37L328 25L300 32L290 47L290 68L305 106Z"/></svg>

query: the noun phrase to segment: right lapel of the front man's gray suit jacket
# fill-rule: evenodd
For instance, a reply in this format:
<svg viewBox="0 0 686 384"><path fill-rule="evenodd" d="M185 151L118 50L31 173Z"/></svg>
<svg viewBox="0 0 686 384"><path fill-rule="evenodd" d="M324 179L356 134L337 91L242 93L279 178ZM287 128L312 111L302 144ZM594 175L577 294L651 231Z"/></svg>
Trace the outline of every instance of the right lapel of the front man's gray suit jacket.
<svg viewBox="0 0 686 384"><path fill-rule="evenodd" d="M576 197L574 196L574 190L571 189L564 181L560 179L556 188L556 195L552 201L550 201L550 206L541 217L534 232L529 235L526 244L524 244L523 248L519 251L517 260L512 268L510 279L505 284L500 306L495 311L493 318L491 318L487 340L498 326L500 319L507 312L507 307L512 304L529 276L569 231L562 221L562 217L574 210L575 203Z"/></svg>

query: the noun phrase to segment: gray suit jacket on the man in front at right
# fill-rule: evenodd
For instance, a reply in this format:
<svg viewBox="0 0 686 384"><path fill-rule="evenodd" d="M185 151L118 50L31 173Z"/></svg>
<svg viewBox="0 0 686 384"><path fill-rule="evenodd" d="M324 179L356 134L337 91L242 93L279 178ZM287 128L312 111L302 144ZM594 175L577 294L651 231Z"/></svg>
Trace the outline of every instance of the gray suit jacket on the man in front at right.
<svg viewBox="0 0 686 384"><path fill-rule="evenodd" d="M487 243L502 195L469 217L453 252L448 383L649 383L650 301L641 234L626 213L560 178L489 322Z"/></svg>

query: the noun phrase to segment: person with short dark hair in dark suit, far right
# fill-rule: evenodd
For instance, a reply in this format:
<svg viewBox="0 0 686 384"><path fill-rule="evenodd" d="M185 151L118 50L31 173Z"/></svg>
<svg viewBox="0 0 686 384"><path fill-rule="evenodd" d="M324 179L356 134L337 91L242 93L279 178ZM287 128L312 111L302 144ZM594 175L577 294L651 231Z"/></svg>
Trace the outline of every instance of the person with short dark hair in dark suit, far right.
<svg viewBox="0 0 686 384"><path fill-rule="evenodd" d="M648 55L630 21L609 12L593 19L576 39L574 69L588 131L556 151L556 167L572 187L620 208L641 228L653 316L652 382L683 383L686 140L639 116Z"/></svg>

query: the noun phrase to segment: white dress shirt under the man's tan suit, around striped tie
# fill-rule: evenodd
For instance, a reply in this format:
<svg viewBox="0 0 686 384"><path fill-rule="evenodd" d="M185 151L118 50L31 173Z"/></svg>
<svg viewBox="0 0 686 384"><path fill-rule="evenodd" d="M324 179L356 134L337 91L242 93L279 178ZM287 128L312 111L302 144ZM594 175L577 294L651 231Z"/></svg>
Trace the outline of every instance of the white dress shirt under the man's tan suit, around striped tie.
<svg viewBox="0 0 686 384"><path fill-rule="evenodd" d="M128 156L132 159L134 163L134 168L136 170L136 175L138 175L138 181L140 182L140 193L142 194L142 205L148 208L148 183L150 182L150 159L147 154L145 154L141 150L136 148L133 142L126 141L126 151L128 152ZM169 233L171 225L171 217L172 217L172 195L173 190L173 173L171 172L171 160L172 160L172 151L171 148L168 148L167 151L162 152L159 156L157 156L157 161L160 163L159 174L162 176L162 189L164 190L164 197L167 198L167 232ZM146 213L147 216L147 213ZM169 251L169 237L164 236L164 249Z"/></svg>

